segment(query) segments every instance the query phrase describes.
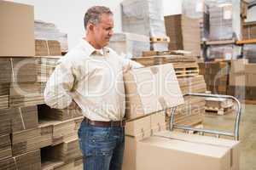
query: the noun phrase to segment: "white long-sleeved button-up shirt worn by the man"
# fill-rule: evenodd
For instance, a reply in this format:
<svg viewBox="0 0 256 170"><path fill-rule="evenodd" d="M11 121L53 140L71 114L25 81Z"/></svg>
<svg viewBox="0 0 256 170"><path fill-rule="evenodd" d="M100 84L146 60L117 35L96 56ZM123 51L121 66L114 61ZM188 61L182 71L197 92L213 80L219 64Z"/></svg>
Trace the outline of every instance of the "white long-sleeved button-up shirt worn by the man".
<svg viewBox="0 0 256 170"><path fill-rule="evenodd" d="M118 121L125 116L123 71L141 66L83 39L59 60L44 89L45 103L64 109L75 101L92 121Z"/></svg>

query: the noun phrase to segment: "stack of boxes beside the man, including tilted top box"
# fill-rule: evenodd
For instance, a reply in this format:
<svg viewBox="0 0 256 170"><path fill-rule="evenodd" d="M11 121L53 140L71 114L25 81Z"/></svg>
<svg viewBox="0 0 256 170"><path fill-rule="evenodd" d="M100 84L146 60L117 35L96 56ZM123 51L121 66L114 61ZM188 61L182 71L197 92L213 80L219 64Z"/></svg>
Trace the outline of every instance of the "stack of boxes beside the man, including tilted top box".
<svg viewBox="0 0 256 170"><path fill-rule="evenodd" d="M126 110L124 170L137 169L137 144L166 130L166 109L183 104L172 64L155 65L124 75Z"/></svg>

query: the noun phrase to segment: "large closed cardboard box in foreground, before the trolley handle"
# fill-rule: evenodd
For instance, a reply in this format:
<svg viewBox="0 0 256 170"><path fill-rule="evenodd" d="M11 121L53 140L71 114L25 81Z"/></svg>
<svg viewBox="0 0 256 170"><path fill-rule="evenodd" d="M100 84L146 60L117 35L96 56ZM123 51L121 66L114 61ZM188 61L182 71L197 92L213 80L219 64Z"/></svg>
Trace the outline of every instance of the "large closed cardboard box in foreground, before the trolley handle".
<svg viewBox="0 0 256 170"><path fill-rule="evenodd" d="M154 136L137 143L137 170L231 169L236 164L232 151L225 145Z"/></svg>

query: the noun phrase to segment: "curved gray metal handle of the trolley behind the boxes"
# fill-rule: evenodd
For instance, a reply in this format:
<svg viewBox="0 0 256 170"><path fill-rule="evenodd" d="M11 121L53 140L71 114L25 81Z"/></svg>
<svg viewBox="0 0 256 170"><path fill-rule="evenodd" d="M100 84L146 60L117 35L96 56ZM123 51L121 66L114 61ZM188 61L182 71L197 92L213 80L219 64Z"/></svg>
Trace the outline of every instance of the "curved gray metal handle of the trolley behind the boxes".
<svg viewBox="0 0 256 170"><path fill-rule="evenodd" d="M201 132L201 133L212 133L212 134L216 134L218 136L220 136L220 135L230 136L230 137L234 137L235 140L239 140L239 124L240 124L240 120L241 120L241 103L238 99L236 99L235 97L230 96L230 95L221 95L221 94L194 94L194 93L189 93L189 94L185 94L183 96L223 98L223 99L233 99L234 101L236 101L236 104L237 104L238 107L236 109L236 123L235 123L234 133L228 133L228 132L224 132L224 131L217 131L217 130L204 129L204 128L201 129L201 128L194 128L194 127L189 127L189 126L176 125L176 124L173 123L176 107L173 107L172 112L171 112L171 120L170 120L170 130L171 131L174 128L177 128L177 129L183 129L183 130L197 131L197 132Z"/></svg>

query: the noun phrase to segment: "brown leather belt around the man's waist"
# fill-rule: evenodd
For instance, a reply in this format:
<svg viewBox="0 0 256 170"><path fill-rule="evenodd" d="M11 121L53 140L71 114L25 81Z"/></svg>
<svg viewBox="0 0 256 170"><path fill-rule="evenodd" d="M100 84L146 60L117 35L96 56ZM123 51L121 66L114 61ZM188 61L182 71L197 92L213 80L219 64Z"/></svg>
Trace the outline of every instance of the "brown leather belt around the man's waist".
<svg viewBox="0 0 256 170"><path fill-rule="evenodd" d="M87 117L84 117L83 121L96 127L125 127L125 120L102 122L102 121L91 121Z"/></svg>

